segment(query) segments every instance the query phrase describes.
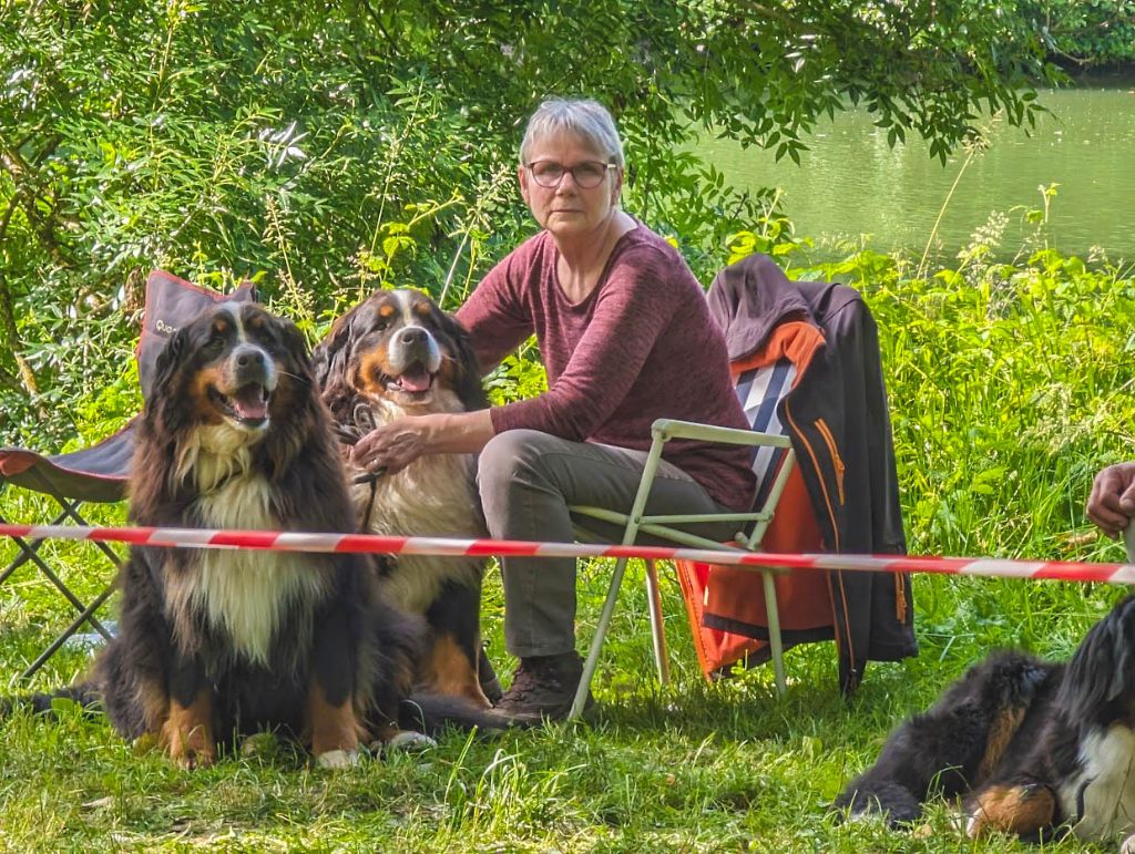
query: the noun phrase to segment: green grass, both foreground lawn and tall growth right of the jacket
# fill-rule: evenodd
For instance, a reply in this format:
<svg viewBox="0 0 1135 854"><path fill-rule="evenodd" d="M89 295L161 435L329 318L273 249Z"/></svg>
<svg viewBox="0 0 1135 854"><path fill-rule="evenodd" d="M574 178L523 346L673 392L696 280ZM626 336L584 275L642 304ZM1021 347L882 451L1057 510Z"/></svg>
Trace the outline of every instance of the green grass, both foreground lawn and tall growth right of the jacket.
<svg viewBox="0 0 1135 854"><path fill-rule="evenodd" d="M1118 560L1085 538L1093 473L1133 457L1129 273L1041 253L1017 267L967 262L925 281L860 253L840 274L866 293L882 330L902 502L913 552ZM36 518L36 501L0 496L0 513ZM115 521L103 509L96 521ZM120 513L120 510L117 510ZM90 546L52 543L86 595L106 575ZM11 551L0 546L0 560ZM590 637L609 567L580 581L580 637ZM787 656L777 697L767 668L707 685L680 592L664 584L674 684L653 678L641 574L628 576L596 680L592 725L498 738L452 733L417 755L346 772L312 769L277 745L195 772L136 753L98 717L0 724L0 848L224 851L1028 851L964 838L948 804L914 834L839 826L825 805L873 761L888 732L999 646L1067 657L1123 594L1103 585L919 576L917 659L872 665L859 693L836 690L831 644ZM490 654L502 652L496 574L485 607ZM68 619L67 606L23 569L0 587L6 691L70 680L69 651L32 686L14 674ZM0 683L2 684L2 683ZM1066 840L1044 851L1113 851Z"/></svg>

